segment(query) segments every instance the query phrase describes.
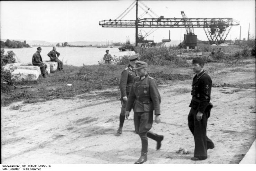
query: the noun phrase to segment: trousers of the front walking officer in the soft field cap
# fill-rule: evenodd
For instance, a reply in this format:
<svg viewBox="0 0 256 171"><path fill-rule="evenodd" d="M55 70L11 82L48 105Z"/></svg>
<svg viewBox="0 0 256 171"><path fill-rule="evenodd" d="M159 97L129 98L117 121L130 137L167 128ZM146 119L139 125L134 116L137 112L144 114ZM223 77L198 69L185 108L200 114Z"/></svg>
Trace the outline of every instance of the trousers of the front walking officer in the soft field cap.
<svg viewBox="0 0 256 171"><path fill-rule="evenodd" d="M135 130L141 138L141 153L148 152L148 137L158 141L159 135L149 131L153 124L153 111L152 112L134 112Z"/></svg>

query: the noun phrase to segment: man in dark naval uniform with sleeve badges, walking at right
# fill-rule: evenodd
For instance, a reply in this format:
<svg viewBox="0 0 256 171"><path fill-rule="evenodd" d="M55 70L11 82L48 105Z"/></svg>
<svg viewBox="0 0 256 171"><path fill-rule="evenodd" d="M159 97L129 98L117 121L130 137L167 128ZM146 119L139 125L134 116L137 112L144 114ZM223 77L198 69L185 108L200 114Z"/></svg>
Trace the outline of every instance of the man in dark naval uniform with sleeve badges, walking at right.
<svg viewBox="0 0 256 171"><path fill-rule="evenodd" d="M212 108L211 100L211 78L203 70L204 62L200 58L192 60L193 71L196 76L192 83L192 100L188 115L188 126L195 140L194 157L191 160L205 160L207 150L214 148L214 143L206 136L207 120Z"/></svg>

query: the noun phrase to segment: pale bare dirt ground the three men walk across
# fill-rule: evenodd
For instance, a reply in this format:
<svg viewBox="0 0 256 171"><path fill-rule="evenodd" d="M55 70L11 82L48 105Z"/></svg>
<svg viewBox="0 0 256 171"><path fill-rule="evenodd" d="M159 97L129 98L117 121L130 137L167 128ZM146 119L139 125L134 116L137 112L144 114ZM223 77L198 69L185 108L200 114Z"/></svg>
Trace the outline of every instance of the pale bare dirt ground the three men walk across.
<svg viewBox="0 0 256 171"><path fill-rule="evenodd" d="M161 123L151 131L163 134L162 147L149 139L145 163L239 163L255 140L255 59L244 66L220 67L206 64L215 85L207 135L215 143L208 159L191 161L194 140L187 124L191 82L170 81L159 85L162 98ZM2 163L126 163L140 157L141 141L134 133L133 112L116 136L121 102L111 94L118 89L88 92L73 99L12 103L1 108ZM177 154L182 147L189 154Z"/></svg>

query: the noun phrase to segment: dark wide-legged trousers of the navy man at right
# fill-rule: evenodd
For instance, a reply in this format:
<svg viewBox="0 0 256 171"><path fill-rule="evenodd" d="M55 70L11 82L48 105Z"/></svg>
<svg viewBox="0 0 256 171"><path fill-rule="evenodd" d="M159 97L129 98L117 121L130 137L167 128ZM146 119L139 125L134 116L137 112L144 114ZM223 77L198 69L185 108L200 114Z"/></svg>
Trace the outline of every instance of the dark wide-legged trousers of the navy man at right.
<svg viewBox="0 0 256 171"><path fill-rule="evenodd" d="M188 115L188 127L195 140L194 157L198 159L207 158L207 149L213 148L214 143L206 136L207 120L209 111L203 113L202 120L197 120L198 110L191 108Z"/></svg>

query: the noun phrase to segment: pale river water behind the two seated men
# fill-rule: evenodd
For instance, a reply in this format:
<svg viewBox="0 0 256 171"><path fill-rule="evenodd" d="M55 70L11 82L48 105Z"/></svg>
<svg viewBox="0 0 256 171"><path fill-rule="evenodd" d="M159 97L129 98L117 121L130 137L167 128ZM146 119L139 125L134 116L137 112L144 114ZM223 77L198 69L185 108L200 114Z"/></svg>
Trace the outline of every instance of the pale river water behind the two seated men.
<svg viewBox="0 0 256 171"><path fill-rule="evenodd" d="M4 52L12 50L20 63L28 63L32 61L33 54L37 51L37 47L32 48L21 48L21 49L4 49ZM47 54L53 49L53 47L41 47L41 57L43 61L50 60ZM113 48L96 48L96 47L59 47L57 52L60 53L59 60L63 61L64 64L73 65L73 66L83 66L85 65L94 65L98 64L98 61L102 61L106 50L109 50L109 53L114 58L135 54L134 51L124 51L120 52L118 47Z"/></svg>

